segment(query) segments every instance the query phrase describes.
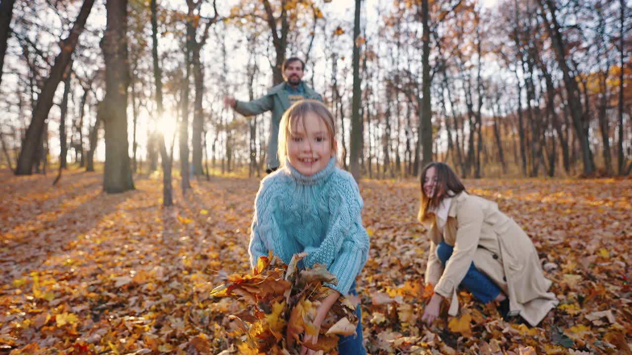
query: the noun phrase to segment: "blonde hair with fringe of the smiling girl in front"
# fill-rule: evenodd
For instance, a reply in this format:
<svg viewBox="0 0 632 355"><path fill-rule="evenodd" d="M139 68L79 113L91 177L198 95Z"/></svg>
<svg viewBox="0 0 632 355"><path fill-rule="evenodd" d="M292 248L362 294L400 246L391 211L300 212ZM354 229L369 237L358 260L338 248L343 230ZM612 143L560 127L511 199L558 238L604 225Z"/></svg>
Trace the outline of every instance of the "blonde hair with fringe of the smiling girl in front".
<svg viewBox="0 0 632 355"><path fill-rule="evenodd" d="M288 141L292 133L292 127L296 124L303 124L308 113L313 113L319 116L327 127L327 133L329 133L329 142L331 143L331 150L335 152L336 149L336 124L334 123L334 116L329 112L327 106L318 100L300 100L295 102L289 107L287 111L281 117L281 123L279 123L279 145L277 146L277 155L281 167L285 166L285 160L288 157Z"/></svg>

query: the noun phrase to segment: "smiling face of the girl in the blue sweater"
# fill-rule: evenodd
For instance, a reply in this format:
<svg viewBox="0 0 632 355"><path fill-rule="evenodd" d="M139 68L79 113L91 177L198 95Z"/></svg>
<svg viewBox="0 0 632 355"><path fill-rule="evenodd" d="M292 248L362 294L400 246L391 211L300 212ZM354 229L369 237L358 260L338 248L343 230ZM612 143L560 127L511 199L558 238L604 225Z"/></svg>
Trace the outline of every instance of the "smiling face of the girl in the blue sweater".
<svg viewBox="0 0 632 355"><path fill-rule="evenodd" d="M296 120L291 128L288 140L289 164L305 176L325 169L329 159L336 153L336 143L332 150L331 140L323 119L308 112L302 120Z"/></svg>

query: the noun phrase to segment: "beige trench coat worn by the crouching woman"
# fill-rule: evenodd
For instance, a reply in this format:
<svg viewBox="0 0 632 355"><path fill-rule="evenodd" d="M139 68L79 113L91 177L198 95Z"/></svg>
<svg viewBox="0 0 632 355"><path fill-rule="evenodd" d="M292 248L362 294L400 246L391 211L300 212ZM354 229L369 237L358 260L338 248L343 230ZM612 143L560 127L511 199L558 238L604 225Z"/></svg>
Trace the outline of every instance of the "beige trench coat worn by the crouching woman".
<svg viewBox="0 0 632 355"><path fill-rule="evenodd" d="M437 258L441 241L454 246L445 270ZM502 292L509 296L509 310L535 327L557 306L552 282L544 277L538 253L531 239L513 219L498 210L495 202L465 191L454 196L443 235L434 222L430 229L430 251L425 282L435 285L434 291L451 298L449 315L458 313L456 290L474 262Z"/></svg>

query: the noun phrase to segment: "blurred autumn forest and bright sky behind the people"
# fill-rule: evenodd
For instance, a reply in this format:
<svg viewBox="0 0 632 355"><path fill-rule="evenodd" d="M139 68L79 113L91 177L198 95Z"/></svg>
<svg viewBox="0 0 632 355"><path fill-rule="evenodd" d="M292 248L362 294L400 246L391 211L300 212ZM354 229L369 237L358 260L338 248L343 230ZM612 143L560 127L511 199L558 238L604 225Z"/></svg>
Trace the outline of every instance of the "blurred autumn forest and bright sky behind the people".
<svg viewBox="0 0 632 355"><path fill-rule="evenodd" d="M221 97L264 95L298 56L356 178L430 160L467 178L626 175L631 13L626 0L2 0L0 162L18 175L105 162L110 192L160 167L168 183L172 165L183 188L262 176L269 116Z"/></svg>

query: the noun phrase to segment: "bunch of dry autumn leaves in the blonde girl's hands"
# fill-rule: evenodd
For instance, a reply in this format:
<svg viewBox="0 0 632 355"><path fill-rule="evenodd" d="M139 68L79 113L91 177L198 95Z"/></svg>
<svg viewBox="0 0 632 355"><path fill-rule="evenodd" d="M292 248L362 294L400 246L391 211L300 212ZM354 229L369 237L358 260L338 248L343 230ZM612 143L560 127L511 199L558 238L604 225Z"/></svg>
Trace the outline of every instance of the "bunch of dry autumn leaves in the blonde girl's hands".
<svg viewBox="0 0 632 355"><path fill-rule="evenodd" d="M228 283L210 292L210 296L243 301L254 311L250 324L231 315L240 324L237 332L245 334L245 341L238 344L241 354L292 355L298 354L301 346L337 354L338 335L355 334L357 301L344 296L331 307L320 329L313 325L320 301L335 292L322 283L336 284L337 280L324 265L298 270L296 265L305 256L307 253L296 254L285 265L270 252L257 260L251 273L230 275ZM303 342L303 333L318 335L318 342Z"/></svg>

